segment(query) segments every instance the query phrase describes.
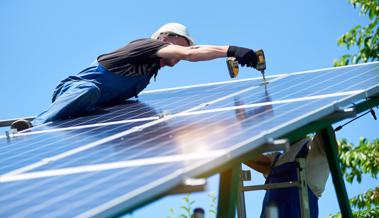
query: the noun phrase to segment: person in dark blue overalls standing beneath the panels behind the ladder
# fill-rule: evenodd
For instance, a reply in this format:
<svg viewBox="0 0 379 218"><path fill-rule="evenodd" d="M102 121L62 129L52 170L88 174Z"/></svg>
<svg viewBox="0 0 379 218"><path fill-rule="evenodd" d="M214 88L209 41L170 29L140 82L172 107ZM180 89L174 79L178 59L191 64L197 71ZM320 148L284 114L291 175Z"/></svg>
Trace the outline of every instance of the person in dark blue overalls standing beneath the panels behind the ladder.
<svg viewBox="0 0 379 218"><path fill-rule="evenodd" d="M304 138L291 145L284 154L272 153L261 155L246 163L266 177L266 184L297 181L295 159L305 156L306 179L308 182L308 199L310 215L318 217L318 198L325 189L329 176L328 160L325 156L324 143L319 134L312 140ZM281 188L266 191L261 218L266 217L266 207L275 205L280 218L300 218L300 200L298 188Z"/></svg>

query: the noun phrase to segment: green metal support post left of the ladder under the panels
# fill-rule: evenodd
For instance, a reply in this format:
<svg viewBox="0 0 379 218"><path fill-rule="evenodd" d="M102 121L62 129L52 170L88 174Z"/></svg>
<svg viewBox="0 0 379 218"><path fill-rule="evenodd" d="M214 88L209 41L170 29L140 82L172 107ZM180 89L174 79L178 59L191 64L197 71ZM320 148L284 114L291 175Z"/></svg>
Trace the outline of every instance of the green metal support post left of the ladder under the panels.
<svg viewBox="0 0 379 218"><path fill-rule="evenodd" d="M241 167L238 164L220 173L217 218L234 218L237 208Z"/></svg>

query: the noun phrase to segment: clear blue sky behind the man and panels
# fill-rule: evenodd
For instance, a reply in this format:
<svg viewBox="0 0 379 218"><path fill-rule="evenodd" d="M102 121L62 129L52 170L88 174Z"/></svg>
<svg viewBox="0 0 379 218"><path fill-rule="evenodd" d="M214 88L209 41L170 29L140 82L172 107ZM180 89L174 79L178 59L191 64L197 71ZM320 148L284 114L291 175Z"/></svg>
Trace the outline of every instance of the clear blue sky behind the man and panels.
<svg viewBox="0 0 379 218"><path fill-rule="evenodd" d="M35 115L50 103L58 82L88 66L99 54L141 37L167 22L188 26L197 44L263 48L268 75L330 67L345 54L337 38L364 25L347 0L292 1L20 1L0 3L0 119ZM257 77L241 69L240 78ZM225 60L181 62L163 68L148 89L229 80ZM338 132L358 142L377 137L378 122L364 117ZM376 131L375 131L376 130ZM253 178L262 182L258 174ZM331 179L320 199L320 216L338 210ZM365 177L348 186L350 196L377 181ZM217 192L217 176L209 191ZM207 193L193 194L207 208ZM258 217L262 193L248 193L249 217ZM183 196L165 197L136 211L133 217L166 217L182 205Z"/></svg>

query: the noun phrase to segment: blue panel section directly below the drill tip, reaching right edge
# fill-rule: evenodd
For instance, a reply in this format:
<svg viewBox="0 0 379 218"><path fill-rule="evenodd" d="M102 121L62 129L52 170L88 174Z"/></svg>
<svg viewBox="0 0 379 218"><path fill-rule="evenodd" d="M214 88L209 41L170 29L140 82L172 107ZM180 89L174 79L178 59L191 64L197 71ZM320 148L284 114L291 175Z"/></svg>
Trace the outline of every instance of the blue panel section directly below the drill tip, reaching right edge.
<svg viewBox="0 0 379 218"><path fill-rule="evenodd" d="M375 68L368 65L346 71L342 69L290 76L271 83L266 89L254 89L235 97L235 101L222 101L207 109L341 93L379 84L379 66Z"/></svg>

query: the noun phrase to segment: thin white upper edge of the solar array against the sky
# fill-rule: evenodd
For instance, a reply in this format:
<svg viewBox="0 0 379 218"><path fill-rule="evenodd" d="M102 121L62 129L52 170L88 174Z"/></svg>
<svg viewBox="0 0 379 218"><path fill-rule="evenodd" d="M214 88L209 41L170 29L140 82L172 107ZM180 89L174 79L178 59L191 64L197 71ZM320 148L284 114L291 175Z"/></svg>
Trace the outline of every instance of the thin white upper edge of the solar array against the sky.
<svg viewBox="0 0 379 218"><path fill-rule="evenodd" d="M379 61L373 61L373 62L351 64L351 65L340 66L340 67L327 67L327 68L321 68L321 69L317 69L317 70L305 70L305 71L299 71L299 72L293 72L293 73L274 74L274 75L266 76L266 79L276 78L276 77L284 77L284 76L290 76L290 75L317 73L317 72L325 71L325 70L343 69L343 68L350 68L350 67L371 65L371 64L378 64L378 63L379 63ZM176 90L181 90L181 89L190 89L190 88L205 87L205 86L223 85L223 84L230 84L230 83L246 82L246 81L251 81L251 80L262 80L262 77L252 77L252 78L246 78L246 79L202 83L202 84L196 84L196 85L178 86L178 87L163 88L163 89L153 89L153 90L142 91L140 94L143 95L143 94L159 93L159 92L165 92L165 91L176 91Z"/></svg>

